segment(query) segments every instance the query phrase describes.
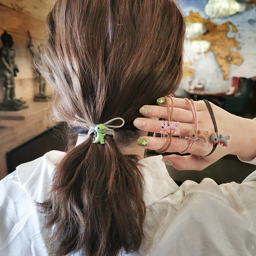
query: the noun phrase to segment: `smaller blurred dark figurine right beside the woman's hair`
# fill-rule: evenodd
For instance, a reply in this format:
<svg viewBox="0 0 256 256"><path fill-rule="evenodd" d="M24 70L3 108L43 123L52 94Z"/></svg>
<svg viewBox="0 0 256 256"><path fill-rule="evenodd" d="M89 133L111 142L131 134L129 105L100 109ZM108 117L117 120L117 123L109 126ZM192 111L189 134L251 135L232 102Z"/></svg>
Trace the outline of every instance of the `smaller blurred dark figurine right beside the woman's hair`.
<svg viewBox="0 0 256 256"><path fill-rule="evenodd" d="M35 50L29 31L28 31L28 37L29 37L28 48L30 50L33 60L36 58L37 61L41 61L41 54L42 54L41 45L39 44L37 50ZM46 95L46 91L45 91L46 80L44 79L44 77L42 76L38 68L35 67L35 71L36 71L35 72L36 81L39 83L39 93L34 96L34 101L48 101L50 97Z"/></svg>

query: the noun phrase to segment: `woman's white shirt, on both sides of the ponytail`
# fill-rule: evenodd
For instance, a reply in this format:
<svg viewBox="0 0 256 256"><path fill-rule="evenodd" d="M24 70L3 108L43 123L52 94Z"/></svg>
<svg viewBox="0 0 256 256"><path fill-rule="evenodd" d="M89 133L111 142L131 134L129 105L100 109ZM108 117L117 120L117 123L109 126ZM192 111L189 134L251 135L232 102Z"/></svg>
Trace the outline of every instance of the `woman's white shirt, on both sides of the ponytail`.
<svg viewBox="0 0 256 256"><path fill-rule="evenodd" d="M49 192L54 166L64 154L50 151L0 181L1 256L49 255L33 202ZM147 218L141 255L256 255L256 171L242 184L218 186L205 178L200 184L186 180L179 187L161 159L140 160L150 169L142 170ZM249 163L256 164L256 159Z"/></svg>

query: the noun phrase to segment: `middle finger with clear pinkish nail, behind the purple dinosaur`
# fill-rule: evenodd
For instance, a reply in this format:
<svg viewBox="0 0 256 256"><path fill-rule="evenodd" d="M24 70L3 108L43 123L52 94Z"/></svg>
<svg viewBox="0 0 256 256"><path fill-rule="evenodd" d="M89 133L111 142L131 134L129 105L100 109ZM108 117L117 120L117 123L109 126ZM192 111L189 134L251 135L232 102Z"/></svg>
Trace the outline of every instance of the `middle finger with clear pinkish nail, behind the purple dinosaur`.
<svg viewBox="0 0 256 256"><path fill-rule="evenodd" d="M133 121L133 124L135 127L138 129L145 131L145 132L158 132L160 133L161 129L161 124L163 121L161 120L152 120L149 118L136 118ZM176 122L172 122L172 124L175 124ZM187 136L188 133L191 129L194 129L194 124L188 124L188 123L181 123L179 122L179 126L177 126L180 134L175 134L175 135L180 135L182 137ZM174 135L174 132L172 132L172 135Z"/></svg>

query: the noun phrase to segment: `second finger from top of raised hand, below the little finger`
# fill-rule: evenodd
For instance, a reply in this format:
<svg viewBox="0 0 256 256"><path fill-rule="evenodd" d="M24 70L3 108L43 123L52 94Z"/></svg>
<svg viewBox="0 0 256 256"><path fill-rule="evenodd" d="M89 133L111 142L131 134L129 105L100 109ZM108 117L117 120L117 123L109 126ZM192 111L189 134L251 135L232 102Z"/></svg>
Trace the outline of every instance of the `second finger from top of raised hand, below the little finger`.
<svg viewBox="0 0 256 256"><path fill-rule="evenodd" d="M170 108L170 112L171 112L171 108ZM142 108L140 108L140 113L143 116L156 116L164 119L169 118L167 108L161 107L161 106L145 105ZM198 114L199 113L197 113L197 115ZM184 123L191 123L191 124L195 122L192 110L186 110L182 108L173 108L172 120L184 122Z"/></svg>

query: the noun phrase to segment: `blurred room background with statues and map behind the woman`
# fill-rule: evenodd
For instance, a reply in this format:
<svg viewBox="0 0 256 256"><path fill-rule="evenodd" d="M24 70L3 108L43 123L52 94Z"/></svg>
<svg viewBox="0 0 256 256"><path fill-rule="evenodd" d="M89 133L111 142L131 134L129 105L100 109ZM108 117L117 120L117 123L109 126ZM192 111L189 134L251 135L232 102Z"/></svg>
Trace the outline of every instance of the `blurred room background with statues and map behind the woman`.
<svg viewBox="0 0 256 256"><path fill-rule="evenodd" d="M0 179L76 136L50 120L52 92L35 69L54 0L0 0ZM256 0L177 0L187 20L184 75L176 97L207 99L230 113L256 116ZM246 131L245 131L246 137ZM147 151L147 156L156 155ZM202 172L168 172L180 185L205 177L218 184L244 178L255 166L225 156Z"/></svg>

